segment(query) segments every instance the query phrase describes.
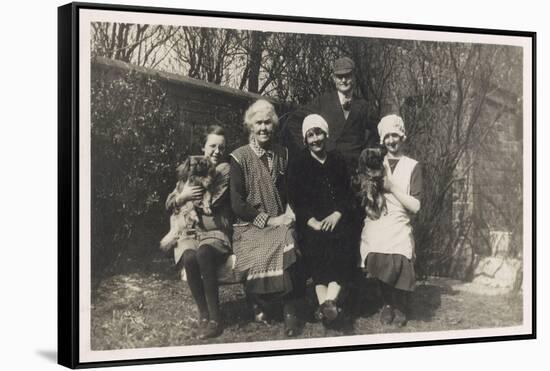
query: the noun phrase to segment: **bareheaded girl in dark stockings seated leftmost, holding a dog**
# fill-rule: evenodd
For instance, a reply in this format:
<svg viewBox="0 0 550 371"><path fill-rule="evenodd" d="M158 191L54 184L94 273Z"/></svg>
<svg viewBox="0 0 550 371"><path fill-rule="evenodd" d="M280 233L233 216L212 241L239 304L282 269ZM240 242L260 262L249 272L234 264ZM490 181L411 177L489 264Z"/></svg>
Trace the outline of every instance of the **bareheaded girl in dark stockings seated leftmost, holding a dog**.
<svg viewBox="0 0 550 371"><path fill-rule="evenodd" d="M229 200L229 163L224 162L225 133L221 126L207 128L202 152L215 166L212 180L211 214L199 211L196 234L180 236L174 248L177 267L184 269L187 284L199 312L199 339L219 336L223 332L219 310L217 270L224 264L231 249L232 213ZM166 209L173 212L188 201L203 199L201 186L186 183L174 190L166 200Z"/></svg>

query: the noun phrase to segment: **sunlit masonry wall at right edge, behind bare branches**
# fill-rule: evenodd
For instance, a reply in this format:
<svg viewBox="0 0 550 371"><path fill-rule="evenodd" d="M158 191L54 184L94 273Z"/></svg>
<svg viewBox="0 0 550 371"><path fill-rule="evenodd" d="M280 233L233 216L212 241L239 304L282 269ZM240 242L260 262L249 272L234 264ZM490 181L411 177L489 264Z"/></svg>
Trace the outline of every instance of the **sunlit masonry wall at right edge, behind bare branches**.
<svg viewBox="0 0 550 371"><path fill-rule="evenodd" d="M461 279L471 278L482 257L520 257L522 249L521 102L500 90L488 98L481 147L461 160L457 173L464 176L453 190L454 233L460 243L451 275Z"/></svg>

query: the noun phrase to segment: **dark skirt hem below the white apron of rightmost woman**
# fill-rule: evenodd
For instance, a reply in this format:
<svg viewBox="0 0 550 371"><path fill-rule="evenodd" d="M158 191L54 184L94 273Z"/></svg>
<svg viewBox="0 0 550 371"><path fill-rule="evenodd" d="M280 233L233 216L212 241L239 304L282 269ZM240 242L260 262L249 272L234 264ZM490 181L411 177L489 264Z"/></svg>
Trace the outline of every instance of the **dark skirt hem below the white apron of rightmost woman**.
<svg viewBox="0 0 550 371"><path fill-rule="evenodd" d="M414 291L416 276L414 263L400 254L369 253L366 260L368 277L399 290Z"/></svg>

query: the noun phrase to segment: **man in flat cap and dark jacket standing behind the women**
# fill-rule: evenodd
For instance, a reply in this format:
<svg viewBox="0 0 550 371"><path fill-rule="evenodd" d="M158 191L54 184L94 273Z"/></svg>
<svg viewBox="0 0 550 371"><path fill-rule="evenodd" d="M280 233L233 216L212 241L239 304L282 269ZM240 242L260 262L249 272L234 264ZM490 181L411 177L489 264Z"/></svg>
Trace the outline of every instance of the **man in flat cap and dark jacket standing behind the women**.
<svg viewBox="0 0 550 371"><path fill-rule="evenodd" d="M350 174L355 174L361 151L379 142L376 127L371 127L367 119L367 102L353 94L354 70L355 63L348 57L334 61L332 80L336 90L321 95L308 106L327 121L327 150L340 152Z"/></svg>

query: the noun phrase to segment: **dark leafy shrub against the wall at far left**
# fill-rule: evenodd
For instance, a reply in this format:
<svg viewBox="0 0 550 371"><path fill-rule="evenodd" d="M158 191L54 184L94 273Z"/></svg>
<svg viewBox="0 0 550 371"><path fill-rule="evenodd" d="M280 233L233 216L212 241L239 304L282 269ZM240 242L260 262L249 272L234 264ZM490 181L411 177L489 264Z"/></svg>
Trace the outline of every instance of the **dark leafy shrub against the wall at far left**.
<svg viewBox="0 0 550 371"><path fill-rule="evenodd" d="M153 78L101 72L91 86L92 272L101 275L129 244L150 247L163 222L173 169L188 148L177 109ZM154 238L153 238L154 237Z"/></svg>

